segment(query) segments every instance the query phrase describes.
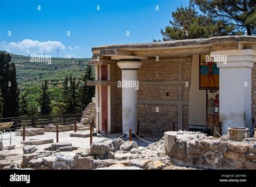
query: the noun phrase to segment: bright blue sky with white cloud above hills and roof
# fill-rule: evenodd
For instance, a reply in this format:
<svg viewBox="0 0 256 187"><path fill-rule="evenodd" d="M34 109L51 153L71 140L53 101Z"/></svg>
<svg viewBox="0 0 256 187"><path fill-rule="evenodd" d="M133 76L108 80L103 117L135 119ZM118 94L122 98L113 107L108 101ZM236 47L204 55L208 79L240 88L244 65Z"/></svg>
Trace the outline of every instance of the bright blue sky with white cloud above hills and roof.
<svg viewBox="0 0 256 187"><path fill-rule="evenodd" d="M160 29L169 25L172 11L188 4L188 0L2 0L0 50L55 57L59 48L60 57L91 57L95 46L162 39Z"/></svg>

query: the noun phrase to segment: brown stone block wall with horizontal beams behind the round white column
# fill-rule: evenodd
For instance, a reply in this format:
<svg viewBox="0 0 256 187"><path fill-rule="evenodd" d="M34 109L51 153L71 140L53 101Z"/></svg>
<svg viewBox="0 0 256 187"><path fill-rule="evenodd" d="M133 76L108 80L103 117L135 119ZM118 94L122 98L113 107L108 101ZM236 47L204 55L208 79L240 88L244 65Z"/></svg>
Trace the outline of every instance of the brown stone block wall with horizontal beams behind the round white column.
<svg viewBox="0 0 256 187"><path fill-rule="evenodd" d="M172 130L173 122L176 124L176 130L188 129L191 61L192 56L142 61L143 65L138 70L140 132L161 134ZM114 80L122 80L121 69L118 66L115 69ZM116 124L122 124L122 88L115 89L114 121Z"/></svg>

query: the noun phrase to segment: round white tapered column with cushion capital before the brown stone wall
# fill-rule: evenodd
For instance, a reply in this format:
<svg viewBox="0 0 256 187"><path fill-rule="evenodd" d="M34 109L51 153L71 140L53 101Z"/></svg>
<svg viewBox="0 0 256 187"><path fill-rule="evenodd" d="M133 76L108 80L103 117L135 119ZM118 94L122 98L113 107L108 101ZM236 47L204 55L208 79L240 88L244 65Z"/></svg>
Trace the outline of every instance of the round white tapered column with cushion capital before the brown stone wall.
<svg viewBox="0 0 256 187"><path fill-rule="evenodd" d="M136 132L138 69L142 63L139 60L121 60L117 65L122 69L122 84L119 82L118 86L122 86L123 133L130 128Z"/></svg>

